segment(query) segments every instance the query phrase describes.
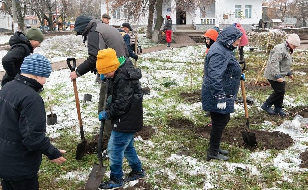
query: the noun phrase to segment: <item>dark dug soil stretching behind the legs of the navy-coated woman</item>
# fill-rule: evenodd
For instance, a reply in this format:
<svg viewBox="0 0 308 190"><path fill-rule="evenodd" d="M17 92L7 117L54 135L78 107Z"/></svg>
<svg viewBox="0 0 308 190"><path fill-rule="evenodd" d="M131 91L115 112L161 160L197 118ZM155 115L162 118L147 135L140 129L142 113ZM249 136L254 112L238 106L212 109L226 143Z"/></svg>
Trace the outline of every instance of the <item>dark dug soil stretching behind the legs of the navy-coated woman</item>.
<svg viewBox="0 0 308 190"><path fill-rule="evenodd" d="M180 130L189 130L192 131L197 136L202 136L204 138L210 138L211 126L195 127L194 124L189 120L171 120L170 126ZM221 142L232 144L238 144L238 146L243 146L249 150L268 150L276 149L283 150L290 147L294 142L293 139L285 133L274 131L258 131L252 130L251 132L255 133L258 147L249 146L244 143L241 131L245 131L246 127L230 127L224 130Z"/></svg>

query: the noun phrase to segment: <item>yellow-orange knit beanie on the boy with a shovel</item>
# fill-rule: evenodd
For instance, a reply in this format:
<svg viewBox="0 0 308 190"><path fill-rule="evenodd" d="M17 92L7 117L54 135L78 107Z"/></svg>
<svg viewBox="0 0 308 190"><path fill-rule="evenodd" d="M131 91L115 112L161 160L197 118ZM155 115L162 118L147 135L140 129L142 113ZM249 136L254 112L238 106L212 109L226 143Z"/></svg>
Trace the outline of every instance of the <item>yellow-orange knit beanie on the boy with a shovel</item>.
<svg viewBox="0 0 308 190"><path fill-rule="evenodd" d="M117 53L112 48L99 50L96 58L96 70L99 74L115 71L120 65Z"/></svg>

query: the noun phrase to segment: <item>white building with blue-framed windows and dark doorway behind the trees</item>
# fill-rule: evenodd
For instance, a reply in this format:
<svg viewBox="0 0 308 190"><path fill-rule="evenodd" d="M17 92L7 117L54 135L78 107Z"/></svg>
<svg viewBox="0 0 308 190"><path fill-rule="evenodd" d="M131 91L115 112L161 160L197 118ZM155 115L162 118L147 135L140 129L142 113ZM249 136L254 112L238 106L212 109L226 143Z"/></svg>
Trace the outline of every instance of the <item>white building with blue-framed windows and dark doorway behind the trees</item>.
<svg viewBox="0 0 308 190"><path fill-rule="evenodd" d="M206 0L205 0L206 1ZM107 0L107 2L110 2ZM107 11L108 10L108 11ZM148 17L141 18L134 22L127 19L130 11L128 6L112 9L112 5L107 6L106 1L101 1L101 14L107 13L111 16L111 25L120 25L128 22L134 27L146 26ZM204 31L219 23L220 28L224 28L232 23L241 23L246 29L251 28L251 24L258 23L262 18L262 0L215 0L210 6L198 7L193 12L180 11L174 0L163 5L163 17L170 15L176 31L176 25L194 25L196 30ZM164 21L164 22L165 22ZM156 11L154 11L153 24L156 23Z"/></svg>

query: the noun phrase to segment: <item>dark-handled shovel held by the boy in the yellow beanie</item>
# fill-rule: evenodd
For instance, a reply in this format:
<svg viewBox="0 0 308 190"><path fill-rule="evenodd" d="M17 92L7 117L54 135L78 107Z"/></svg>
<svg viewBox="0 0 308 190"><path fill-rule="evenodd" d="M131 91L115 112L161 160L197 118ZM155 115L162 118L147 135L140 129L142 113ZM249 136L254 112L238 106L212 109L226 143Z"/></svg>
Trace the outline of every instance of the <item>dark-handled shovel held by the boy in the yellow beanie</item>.
<svg viewBox="0 0 308 190"><path fill-rule="evenodd" d="M105 91L105 99L104 99L104 106L103 111L106 111L106 102L108 98L109 92L109 81L108 78L105 79L106 81L106 91ZM104 82L104 81L102 81ZM98 154L98 161L99 164L94 164L90 176L85 184L85 190L97 190L99 184L102 182L104 174L106 172L106 166L103 165L103 158L102 158L102 138L104 132L105 120L101 122L101 128L99 129L99 136L98 136L98 143L97 143L97 154Z"/></svg>

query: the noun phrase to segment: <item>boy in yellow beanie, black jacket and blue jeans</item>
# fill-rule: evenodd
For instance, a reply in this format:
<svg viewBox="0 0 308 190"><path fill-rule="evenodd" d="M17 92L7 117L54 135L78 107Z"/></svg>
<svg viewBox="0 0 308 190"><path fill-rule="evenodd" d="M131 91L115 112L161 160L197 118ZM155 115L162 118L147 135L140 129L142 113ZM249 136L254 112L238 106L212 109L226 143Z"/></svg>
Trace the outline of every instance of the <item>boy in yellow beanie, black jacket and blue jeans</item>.
<svg viewBox="0 0 308 190"><path fill-rule="evenodd" d="M99 113L99 120L111 120L113 128L107 148L110 180L101 183L98 189L118 189L123 186L124 181L145 178L145 170L142 169L133 146L134 134L143 126L142 91L139 82L141 70L134 68L132 61L124 56L118 59L115 50L111 48L98 52L96 69L99 74L111 78L111 104L107 111ZM132 168L132 172L124 179L123 157Z"/></svg>

